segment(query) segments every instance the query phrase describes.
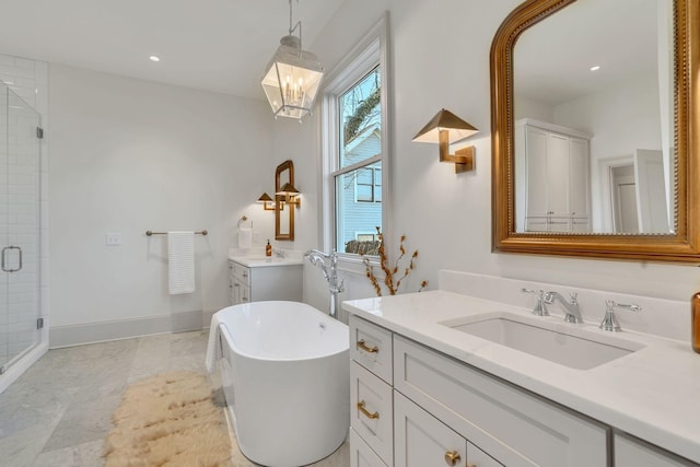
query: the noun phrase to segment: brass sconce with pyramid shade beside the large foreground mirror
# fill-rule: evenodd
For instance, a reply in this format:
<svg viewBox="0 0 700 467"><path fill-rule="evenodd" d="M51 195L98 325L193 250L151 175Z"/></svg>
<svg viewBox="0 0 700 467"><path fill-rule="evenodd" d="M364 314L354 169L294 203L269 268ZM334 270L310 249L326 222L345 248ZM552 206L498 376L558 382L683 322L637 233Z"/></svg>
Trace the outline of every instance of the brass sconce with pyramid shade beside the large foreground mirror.
<svg viewBox="0 0 700 467"><path fill-rule="evenodd" d="M474 171L476 149L470 145L450 154L450 144L462 141L479 130L467 121L444 108L413 137L415 142L432 142L440 144L440 162L453 162L455 174Z"/></svg>

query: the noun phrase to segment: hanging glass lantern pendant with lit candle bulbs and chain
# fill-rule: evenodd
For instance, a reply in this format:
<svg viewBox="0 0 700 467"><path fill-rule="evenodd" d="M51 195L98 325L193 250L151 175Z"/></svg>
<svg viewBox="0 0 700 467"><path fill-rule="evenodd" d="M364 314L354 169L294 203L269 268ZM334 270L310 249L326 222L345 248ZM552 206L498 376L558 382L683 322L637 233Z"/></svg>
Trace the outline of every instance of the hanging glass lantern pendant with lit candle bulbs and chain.
<svg viewBox="0 0 700 467"><path fill-rule="evenodd" d="M324 68L316 56L302 50L302 22L292 27L292 0L289 1L289 35L265 69L261 84L275 117L301 120L311 115L324 77ZM299 28L299 37L293 33Z"/></svg>

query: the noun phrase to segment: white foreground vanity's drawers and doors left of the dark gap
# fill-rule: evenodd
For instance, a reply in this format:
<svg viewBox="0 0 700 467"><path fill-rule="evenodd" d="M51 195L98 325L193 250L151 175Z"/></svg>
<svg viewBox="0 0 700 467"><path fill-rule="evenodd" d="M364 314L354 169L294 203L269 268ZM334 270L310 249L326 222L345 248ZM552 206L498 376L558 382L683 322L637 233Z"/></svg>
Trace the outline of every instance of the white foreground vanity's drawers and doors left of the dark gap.
<svg viewBox="0 0 700 467"><path fill-rule="evenodd" d="M608 466L607 425L357 315L350 339L352 466Z"/></svg>

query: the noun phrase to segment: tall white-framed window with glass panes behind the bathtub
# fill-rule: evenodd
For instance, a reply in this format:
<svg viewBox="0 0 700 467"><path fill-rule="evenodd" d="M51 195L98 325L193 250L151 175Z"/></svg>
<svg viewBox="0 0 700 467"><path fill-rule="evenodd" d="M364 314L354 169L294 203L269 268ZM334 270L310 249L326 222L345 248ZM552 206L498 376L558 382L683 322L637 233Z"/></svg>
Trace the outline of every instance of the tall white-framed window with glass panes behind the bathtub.
<svg viewBox="0 0 700 467"><path fill-rule="evenodd" d="M355 253L349 245L360 241L358 232L386 231L385 24L334 70L324 91L324 240L340 253Z"/></svg>

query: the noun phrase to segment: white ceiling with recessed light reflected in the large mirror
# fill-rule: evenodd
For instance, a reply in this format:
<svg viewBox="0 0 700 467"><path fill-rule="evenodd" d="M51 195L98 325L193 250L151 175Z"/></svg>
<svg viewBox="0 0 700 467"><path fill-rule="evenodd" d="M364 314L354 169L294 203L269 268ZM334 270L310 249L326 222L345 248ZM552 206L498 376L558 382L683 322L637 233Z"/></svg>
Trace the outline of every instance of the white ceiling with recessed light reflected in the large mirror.
<svg viewBox="0 0 700 467"><path fill-rule="evenodd" d="M514 51L518 96L558 105L657 73L657 1L574 2L523 33ZM599 66L592 72L593 66Z"/></svg>

